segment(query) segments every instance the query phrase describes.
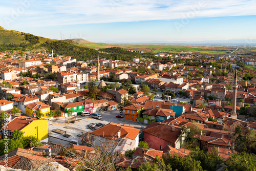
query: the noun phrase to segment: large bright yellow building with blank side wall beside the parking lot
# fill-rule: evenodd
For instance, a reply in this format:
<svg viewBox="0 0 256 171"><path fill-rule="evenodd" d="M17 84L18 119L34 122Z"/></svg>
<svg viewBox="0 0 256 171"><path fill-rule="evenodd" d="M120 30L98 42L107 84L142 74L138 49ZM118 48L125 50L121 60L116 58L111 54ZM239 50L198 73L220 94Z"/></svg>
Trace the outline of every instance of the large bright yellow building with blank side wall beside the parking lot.
<svg viewBox="0 0 256 171"><path fill-rule="evenodd" d="M39 140L48 138L48 120L29 117L15 117L6 126L8 137L13 136L15 130L22 131L25 137L35 136ZM2 128L4 129L4 127ZM4 138L4 137L3 137Z"/></svg>

